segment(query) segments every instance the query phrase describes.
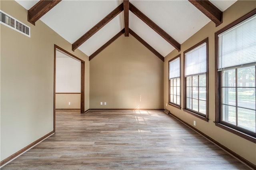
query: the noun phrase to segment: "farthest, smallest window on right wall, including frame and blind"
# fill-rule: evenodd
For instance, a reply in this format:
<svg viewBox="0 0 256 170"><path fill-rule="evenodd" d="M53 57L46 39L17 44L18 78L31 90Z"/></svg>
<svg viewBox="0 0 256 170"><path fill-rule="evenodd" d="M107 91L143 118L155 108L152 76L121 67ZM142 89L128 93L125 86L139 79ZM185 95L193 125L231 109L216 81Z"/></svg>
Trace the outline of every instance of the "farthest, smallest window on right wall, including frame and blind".
<svg viewBox="0 0 256 170"><path fill-rule="evenodd" d="M169 61L169 104L180 108L180 55Z"/></svg>

